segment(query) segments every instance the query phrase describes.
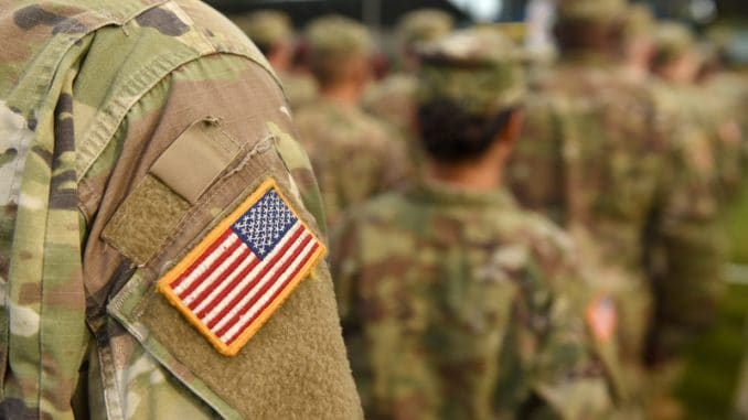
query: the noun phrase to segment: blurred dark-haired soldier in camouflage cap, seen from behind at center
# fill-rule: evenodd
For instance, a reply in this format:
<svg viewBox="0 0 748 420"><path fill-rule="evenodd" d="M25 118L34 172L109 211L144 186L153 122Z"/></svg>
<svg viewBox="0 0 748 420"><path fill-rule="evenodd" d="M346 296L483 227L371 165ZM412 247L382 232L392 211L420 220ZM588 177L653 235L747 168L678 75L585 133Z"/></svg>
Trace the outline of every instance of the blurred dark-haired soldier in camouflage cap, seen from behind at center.
<svg viewBox="0 0 748 420"><path fill-rule="evenodd" d="M350 212L335 235L343 331L370 419L592 419L609 407L571 244L520 209L496 170L521 127L523 78L517 49L494 32L425 50L428 175Z"/></svg>

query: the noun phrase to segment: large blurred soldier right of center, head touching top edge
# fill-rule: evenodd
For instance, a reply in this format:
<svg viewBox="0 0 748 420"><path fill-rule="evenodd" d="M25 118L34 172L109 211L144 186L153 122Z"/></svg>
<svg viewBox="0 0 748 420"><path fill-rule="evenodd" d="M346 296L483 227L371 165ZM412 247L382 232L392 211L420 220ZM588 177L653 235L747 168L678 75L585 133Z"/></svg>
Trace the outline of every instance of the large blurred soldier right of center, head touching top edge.
<svg viewBox="0 0 748 420"><path fill-rule="evenodd" d="M641 391L652 289L663 334L693 332L712 319L722 259L701 158L673 140L649 88L623 75L626 12L622 0L559 3L562 61L528 100L507 175L523 204L599 254L586 260L600 262L595 287L613 297L627 381Z"/></svg>

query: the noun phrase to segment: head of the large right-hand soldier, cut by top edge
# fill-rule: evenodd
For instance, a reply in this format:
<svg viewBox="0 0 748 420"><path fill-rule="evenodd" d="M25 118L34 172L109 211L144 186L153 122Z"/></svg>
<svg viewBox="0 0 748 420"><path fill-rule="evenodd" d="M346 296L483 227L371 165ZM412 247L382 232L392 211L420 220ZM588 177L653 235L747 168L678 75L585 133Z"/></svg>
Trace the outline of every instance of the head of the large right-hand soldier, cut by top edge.
<svg viewBox="0 0 748 420"><path fill-rule="evenodd" d="M626 0L558 0L554 34L562 54L620 54L628 7Z"/></svg>

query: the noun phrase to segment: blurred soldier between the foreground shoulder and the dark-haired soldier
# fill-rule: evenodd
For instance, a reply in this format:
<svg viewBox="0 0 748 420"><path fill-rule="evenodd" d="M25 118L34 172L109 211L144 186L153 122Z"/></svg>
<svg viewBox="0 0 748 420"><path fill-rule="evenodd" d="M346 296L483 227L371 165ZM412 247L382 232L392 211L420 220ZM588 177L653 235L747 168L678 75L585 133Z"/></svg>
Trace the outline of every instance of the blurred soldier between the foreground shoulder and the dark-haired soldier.
<svg viewBox="0 0 748 420"><path fill-rule="evenodd" d="M405 158L402 146L359 106L374 51L366 29L327 17L312 22L306 37L320 98L299 110L297 122L332 223L350 205L399 181Z"/></svg>

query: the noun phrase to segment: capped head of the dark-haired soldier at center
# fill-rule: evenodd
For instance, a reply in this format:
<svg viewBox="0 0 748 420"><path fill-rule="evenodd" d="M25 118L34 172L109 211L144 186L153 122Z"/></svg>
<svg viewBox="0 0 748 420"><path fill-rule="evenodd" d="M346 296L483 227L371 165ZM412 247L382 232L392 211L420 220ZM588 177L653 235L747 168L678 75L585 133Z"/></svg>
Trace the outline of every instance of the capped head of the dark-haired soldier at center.
<svg viewBox="0 0 748 420"><path fill-rule="evenodd" d="M496 31L479 29L420 49L418 125L431 161L505 162L522 122L524 55Z"/></svg>

